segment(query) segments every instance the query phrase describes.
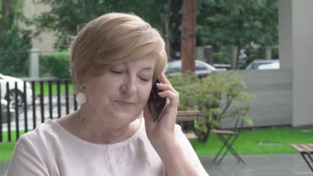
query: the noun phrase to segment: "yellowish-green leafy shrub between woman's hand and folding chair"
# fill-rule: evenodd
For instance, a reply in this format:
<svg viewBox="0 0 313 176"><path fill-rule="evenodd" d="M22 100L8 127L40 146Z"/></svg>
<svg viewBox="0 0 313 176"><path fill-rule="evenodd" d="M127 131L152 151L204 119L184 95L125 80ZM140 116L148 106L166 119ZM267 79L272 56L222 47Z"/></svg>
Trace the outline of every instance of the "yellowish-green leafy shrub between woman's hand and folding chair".
<svg viewBox="0 0 313 176"><path fill-rule="evenodd" d="M179 110L200 110L202 116L195 124L199 140L206 141L212 128L218 127L224 118L239 115L252 125L251 118L239 112L250 110L253 95L244 92L246 85L242 76L235 72L217 72L200 79L195 74L169 77L173 87L180 93Z"/></svg>

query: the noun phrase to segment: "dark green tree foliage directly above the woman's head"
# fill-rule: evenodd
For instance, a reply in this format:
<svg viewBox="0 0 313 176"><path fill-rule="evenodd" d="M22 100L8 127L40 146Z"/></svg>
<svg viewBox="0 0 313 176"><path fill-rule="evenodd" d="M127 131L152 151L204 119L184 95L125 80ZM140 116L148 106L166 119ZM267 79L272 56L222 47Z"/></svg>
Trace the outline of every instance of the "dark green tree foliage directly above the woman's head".
<svg viewBox="0 0 313 176"><path fill-rule="evenodd" d="M51 7L50 11L43 12L35 21L39 31L47 29L57 32L58 41L55 47L59 50L66 49L68 43L67 34L75 36L78 30L77 27L81 29L85 23L108 12L134 13L143 17L154 27L158 26L163 29L164 25L161 15L164 11L164 5L168 4L168 1L165 0L36 0L35 2L48 4Z"/></svg>

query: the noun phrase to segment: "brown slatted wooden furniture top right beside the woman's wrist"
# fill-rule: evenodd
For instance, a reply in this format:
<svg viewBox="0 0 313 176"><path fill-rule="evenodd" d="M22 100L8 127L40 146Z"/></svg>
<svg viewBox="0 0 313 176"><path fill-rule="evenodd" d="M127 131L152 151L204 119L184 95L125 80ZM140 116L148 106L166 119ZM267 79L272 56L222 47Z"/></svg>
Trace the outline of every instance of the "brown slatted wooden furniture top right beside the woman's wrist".
<svg viewBox="0 0 313 176"><path fill-rule="evenodd" d="M177 111L176 123L182 127L182 130L185 130L186 125L189 122L194 122L199 120L201 112L198 110L188 110L188 111ZM194 125L192 124L192 127Z"/></svg>

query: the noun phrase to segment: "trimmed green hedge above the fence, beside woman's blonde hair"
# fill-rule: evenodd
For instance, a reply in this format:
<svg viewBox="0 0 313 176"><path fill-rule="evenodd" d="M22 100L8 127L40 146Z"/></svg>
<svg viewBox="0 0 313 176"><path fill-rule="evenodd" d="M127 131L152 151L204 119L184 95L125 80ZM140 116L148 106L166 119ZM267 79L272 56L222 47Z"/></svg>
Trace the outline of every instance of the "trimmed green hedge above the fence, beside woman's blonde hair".
<svg viewBox="0 0 313 176"><path fill-rule="evenodd" d="M58 78L71 78L69 73L69 53L56 52L51 55L39 57L40 75L55 76Z"/></svg>

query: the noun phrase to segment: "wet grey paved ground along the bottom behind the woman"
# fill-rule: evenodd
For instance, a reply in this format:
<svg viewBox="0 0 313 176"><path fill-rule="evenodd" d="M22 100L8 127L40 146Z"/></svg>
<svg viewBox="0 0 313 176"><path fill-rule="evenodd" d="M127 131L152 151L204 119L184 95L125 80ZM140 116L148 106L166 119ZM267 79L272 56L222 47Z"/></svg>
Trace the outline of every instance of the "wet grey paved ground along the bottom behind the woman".
<svg viewBox="0 0 313 176"><path fill-rule="evenodd" d="M210 176L309 176L313 175L300 154L241 155L247 163L237 163L232 155L225 156L220 165L212 163L213 156L201 156L200 161ZM0 162L0 176L5 175L7 162Z"/></svg>

